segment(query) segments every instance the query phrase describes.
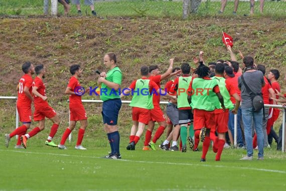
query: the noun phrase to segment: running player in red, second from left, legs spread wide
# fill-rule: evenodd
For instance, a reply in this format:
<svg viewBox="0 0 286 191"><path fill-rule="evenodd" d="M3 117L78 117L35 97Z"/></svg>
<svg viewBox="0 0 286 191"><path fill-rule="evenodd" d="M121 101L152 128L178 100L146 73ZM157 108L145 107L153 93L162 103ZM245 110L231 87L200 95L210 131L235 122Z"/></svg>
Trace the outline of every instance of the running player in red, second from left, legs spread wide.
<svg viewBox="0 0 286 191"><path fill-rule="evenodd" d="M57 133L58 127L60 125L60 118L57 116L57 113L53 108L51 108L47 102L46 96L46 86L43 83L43 79L45 78L45 69L43 64L39 64L35 67L35 71L37 77L34 79L33 82L33 90L32 93L34 94L34 121L38 121L39 126L35 127L32 131L30 131L26 135L22 135L20 137L21 143L23 147L27 148L27 140L37 133L45 129L45 118L49 118L53 122L53 126L51 128L50 135L46 141L46 145L57 147L53 142L53 137Z"/></svg>

